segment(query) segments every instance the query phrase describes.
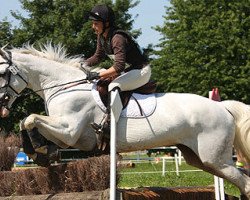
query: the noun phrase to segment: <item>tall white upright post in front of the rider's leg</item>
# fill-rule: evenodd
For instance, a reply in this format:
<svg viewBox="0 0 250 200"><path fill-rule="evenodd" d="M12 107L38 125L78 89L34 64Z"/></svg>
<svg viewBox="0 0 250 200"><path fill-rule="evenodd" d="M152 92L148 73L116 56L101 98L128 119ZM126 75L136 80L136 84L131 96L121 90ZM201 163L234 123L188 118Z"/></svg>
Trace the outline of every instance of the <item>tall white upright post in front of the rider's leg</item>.
<svg viewBox="0 0 250 200"><path fill-rule="evenodd" d="M110 97L110 200L116 200L116 124L122 103L118 90L112 90Z"/></svg>

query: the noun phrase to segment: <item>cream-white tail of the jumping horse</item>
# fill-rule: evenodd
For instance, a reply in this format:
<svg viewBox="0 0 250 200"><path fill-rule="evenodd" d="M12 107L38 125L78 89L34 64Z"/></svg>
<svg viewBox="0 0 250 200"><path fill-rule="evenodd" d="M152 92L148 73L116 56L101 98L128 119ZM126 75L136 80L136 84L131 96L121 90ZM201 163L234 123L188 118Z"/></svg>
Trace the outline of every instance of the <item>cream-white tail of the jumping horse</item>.
<svg viewBox="0 0 250 200"><path fill-rule="evenodd" d="M250 163L250 106L238 101L223 101L235 119L234 148Z"/></svg>

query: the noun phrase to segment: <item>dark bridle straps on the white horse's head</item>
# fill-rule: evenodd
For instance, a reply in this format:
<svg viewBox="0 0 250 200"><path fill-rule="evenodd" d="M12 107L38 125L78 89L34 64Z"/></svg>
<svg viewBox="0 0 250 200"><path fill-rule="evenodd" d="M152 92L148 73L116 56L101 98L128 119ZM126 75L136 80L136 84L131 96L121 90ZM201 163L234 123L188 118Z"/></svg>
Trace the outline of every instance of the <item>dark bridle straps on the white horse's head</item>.
<svg viewBox="0 0 250 200"><path fill-rule="evenodd" d="M20 94L10 85L11 75L18 76L25 82L26 85L28 85L28 82L21 76L18 67L13 64L11 52L6 51L6 53L8 54L8 56L1 54L5 61L0 62L0 65L8 65L5 71L3 73L0 73L0 94L3 94L0 96L0 108L5 107L7 109L10 109L8 107L8 103L11 97L16 98L20 96ZM11 89L14 92L14 95L10 94L8 92L8 89Z"/></svg>

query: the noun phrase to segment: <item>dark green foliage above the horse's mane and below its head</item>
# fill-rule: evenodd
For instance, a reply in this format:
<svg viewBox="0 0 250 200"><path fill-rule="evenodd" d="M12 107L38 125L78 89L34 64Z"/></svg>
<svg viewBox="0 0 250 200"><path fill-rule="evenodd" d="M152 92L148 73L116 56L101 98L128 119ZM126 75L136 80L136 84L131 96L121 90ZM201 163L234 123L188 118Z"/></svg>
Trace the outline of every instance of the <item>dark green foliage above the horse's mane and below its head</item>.
<svg viewBox="0 0 250 200"><path fill-rule="evenodd" d="M136 38L140 30L132 30L134 19L128 13L139 1L132 0L20 0L22 8L28 17L19 12L12 15L20 21L20 26L11 29L7 21L0 22L0 44L6 43L20 47L25 43L39 47L40 43L52 41L53 44L62 44L68 49L69 55L91 56L96 48L96 36L91 28L87 13L96 4L106 3L115 12L117 26L130 31ZM0 122L6 132L18 130L18 122L30 113L44 113L44 103L40 97L30 91L24 98L17 99L12 107L8 119ZM14 124L14 126L13 126Z"/></svg>

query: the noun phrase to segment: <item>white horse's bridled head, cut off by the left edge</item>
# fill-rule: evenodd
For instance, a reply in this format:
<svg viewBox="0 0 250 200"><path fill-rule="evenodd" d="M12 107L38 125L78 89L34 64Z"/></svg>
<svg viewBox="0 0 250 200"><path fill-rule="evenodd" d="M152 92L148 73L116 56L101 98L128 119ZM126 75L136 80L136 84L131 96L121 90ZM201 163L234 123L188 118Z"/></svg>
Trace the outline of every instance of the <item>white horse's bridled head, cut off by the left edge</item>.
<svg viewBox="0 0 250 200"><path fill-rule="evenodd" d="M8 116L11 104L19 95L20 79L27 84L18 68L12 63L11 52L0 49L0 117Z"/></svg>

